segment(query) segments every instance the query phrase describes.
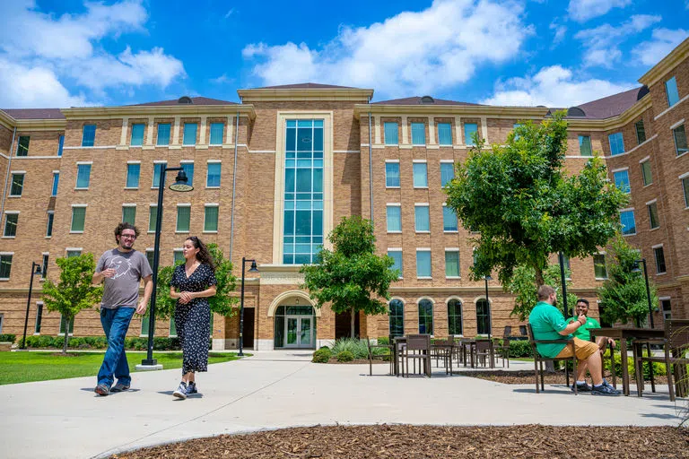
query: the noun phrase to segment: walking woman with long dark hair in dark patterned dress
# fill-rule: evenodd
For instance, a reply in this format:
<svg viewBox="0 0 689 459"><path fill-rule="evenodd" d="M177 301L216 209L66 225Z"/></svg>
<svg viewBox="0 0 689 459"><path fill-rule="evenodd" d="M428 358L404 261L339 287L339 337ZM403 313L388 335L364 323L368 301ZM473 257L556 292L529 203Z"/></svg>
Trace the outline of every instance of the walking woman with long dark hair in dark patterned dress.
<svg viewBox="0 0 689 459"><path fill-rule="evenodd" d="M182 249L185 264L172 273L170 297L177 299L175 325L182 344L182 381L174 396L186 399L197 394L196 371L208 369L208 337L211 335L211 308L208 297L215 295L215 266L201 239L192 236Z"/></svg>

